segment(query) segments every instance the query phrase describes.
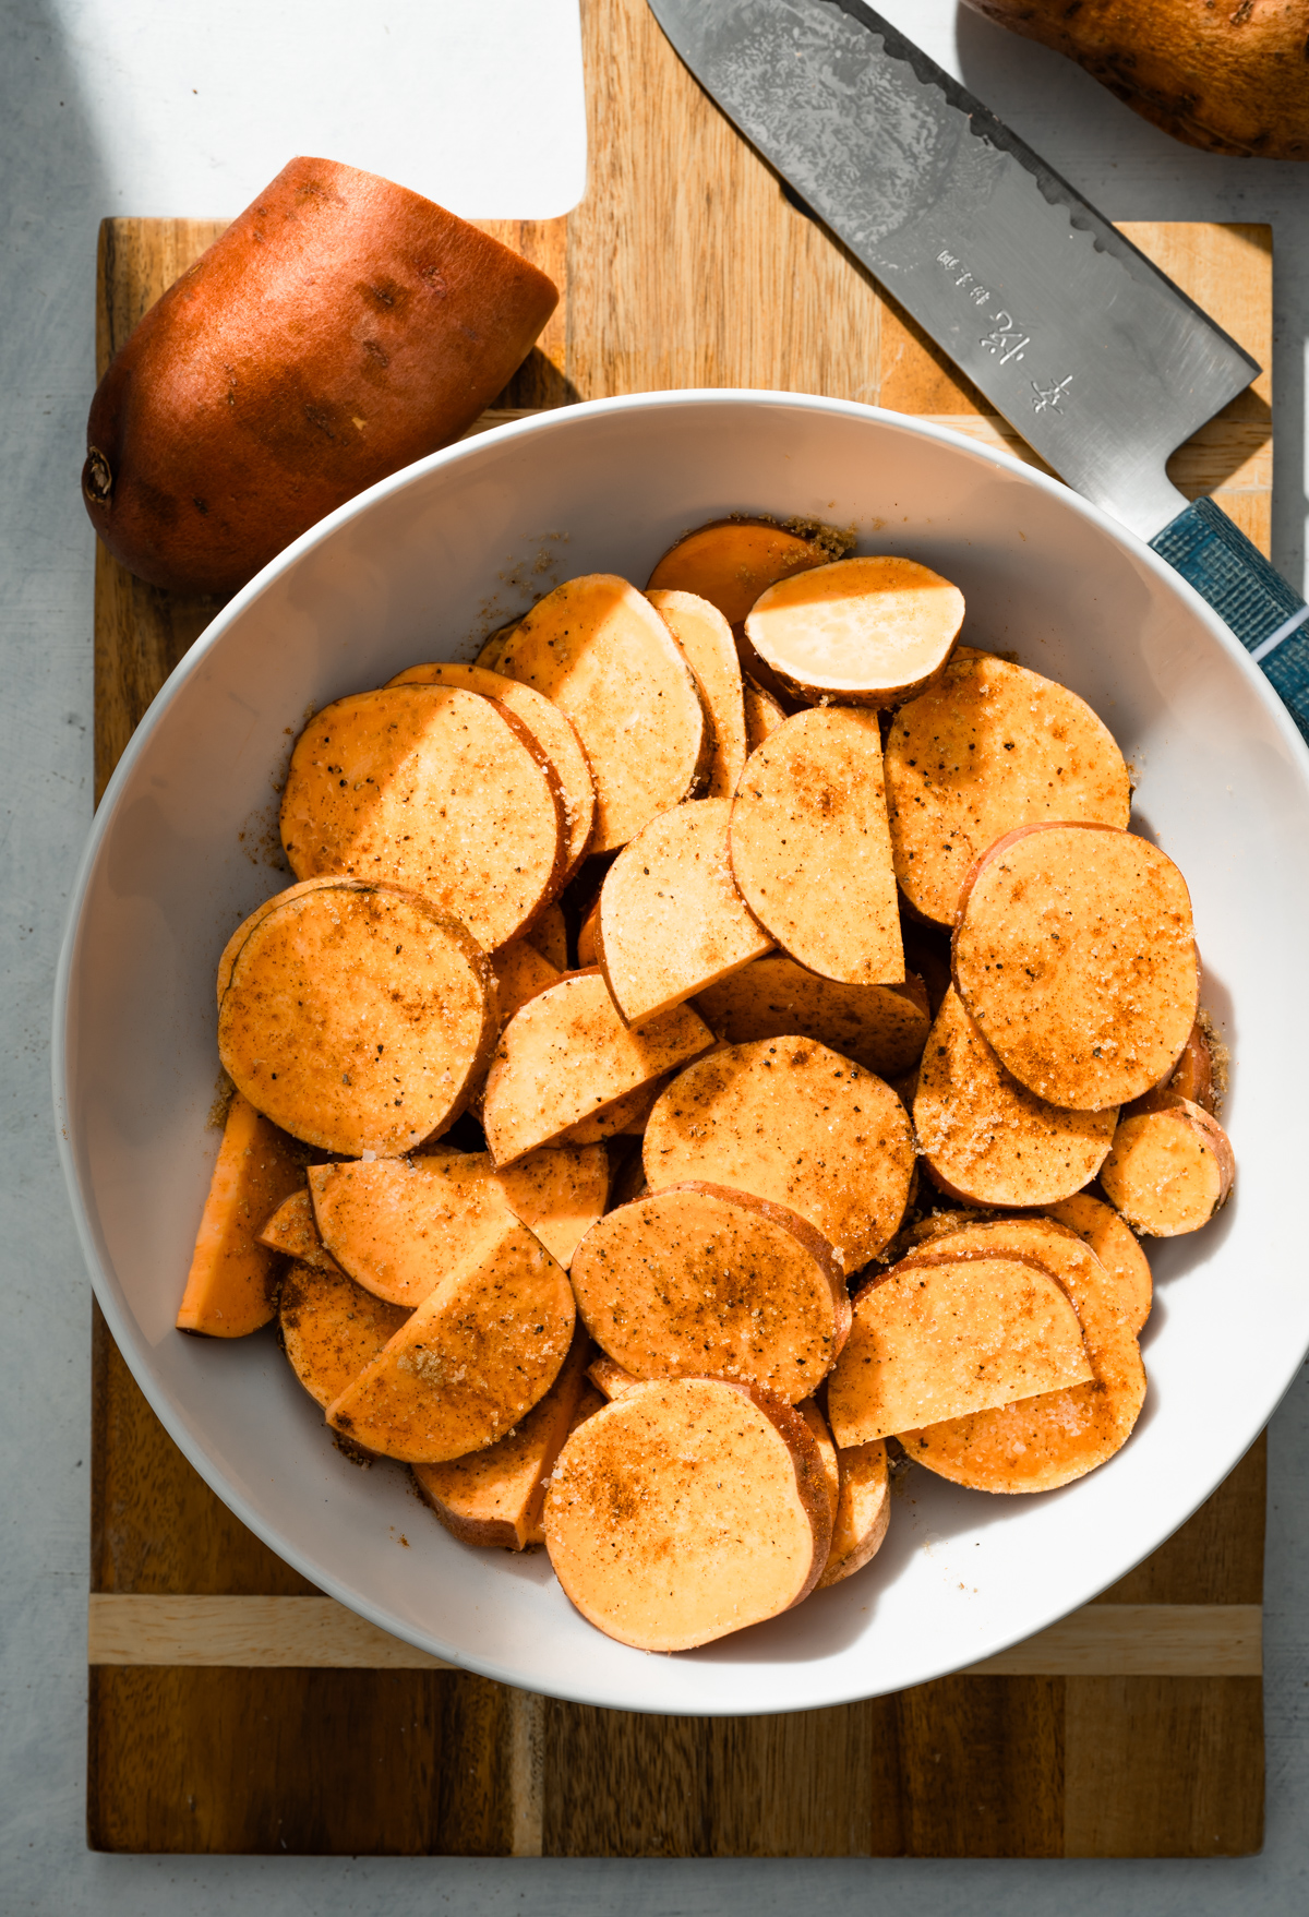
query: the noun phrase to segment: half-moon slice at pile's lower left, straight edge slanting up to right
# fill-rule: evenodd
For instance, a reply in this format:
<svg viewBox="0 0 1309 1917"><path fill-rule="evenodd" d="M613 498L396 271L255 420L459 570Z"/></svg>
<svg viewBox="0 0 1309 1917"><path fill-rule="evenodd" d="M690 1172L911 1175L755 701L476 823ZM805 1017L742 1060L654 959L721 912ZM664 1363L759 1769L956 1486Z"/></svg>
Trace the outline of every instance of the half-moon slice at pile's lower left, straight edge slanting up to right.
<svg viewBox="0 0 1309 1917"><path fill-rule="evenodd" d="M328 1424L402 1465L481 1451L546 1396L575 1317L567 1273L506 1212L328 1405Z"/></svg>

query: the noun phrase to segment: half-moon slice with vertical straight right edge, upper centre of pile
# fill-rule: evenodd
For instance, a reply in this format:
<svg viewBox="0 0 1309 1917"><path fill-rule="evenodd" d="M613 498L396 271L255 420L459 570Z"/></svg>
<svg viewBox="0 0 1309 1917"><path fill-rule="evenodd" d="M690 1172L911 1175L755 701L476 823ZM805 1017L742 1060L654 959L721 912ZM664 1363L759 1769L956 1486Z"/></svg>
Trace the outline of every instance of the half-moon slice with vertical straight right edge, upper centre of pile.
<svg viewBox="0 0 1309 1917"><path fill-rule="evenodd" d="M797 713L749 755L732 801L732 876L759 924L811 972L901 985L876 713Z"/></svg>

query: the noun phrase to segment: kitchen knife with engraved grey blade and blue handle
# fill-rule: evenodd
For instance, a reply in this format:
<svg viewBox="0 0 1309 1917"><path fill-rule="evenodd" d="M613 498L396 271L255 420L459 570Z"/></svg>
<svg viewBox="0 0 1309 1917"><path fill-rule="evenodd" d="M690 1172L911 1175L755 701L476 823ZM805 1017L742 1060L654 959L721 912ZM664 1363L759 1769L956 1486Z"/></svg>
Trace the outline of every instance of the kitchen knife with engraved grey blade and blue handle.
<svg viewBox="0 0 1309 1917"><path fill-rule="evenodd" d="M1257 362L861 0L650 0L717 104L997 412L1230 625L1309 740L1309 606L1165 460Z"/></svg>

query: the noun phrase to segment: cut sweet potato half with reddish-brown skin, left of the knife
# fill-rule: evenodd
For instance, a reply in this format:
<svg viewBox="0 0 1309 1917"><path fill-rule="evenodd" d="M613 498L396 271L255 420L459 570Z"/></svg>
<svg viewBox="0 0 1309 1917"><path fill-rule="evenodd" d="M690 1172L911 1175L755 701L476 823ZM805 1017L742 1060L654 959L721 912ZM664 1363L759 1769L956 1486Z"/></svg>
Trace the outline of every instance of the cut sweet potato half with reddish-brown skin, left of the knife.
<svg viewBox="0 0 1309 1917"><path fill-rule="evenodd" d="M109 552L228 594L448 445L558 303L525 259L391 180L293 159L115 355L82 498Z"/></svg>

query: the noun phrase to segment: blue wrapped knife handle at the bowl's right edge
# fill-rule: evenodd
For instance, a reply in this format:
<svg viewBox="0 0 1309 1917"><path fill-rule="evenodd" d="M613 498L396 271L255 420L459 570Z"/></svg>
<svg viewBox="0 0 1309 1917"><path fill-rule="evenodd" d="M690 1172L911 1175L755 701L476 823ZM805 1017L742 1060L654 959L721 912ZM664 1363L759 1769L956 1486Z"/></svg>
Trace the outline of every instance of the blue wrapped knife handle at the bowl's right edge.
<svg viewBox="0 0 1309 1917"><path fill-rule="evenodd" d="M1309 606L1299 592L1211 498L1192 498L1150 544L1227 619L1309 744Z"/></svg>

